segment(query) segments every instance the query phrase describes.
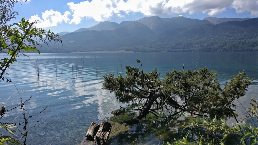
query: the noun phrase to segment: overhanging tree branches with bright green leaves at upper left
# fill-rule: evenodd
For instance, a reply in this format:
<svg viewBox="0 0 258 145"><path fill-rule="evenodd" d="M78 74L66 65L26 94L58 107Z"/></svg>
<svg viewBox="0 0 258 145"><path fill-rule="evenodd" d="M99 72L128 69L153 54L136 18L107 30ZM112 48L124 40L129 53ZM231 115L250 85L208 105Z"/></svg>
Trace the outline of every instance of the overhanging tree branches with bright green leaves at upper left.
<svg viewBox="0 0 258 145"><path fill-rule="evenodd" d="M29 22L22 18L19 23L9 24L10 20L18 15L13 11L13 7L17 3L21 2L19 0L0 0L0 52L9 55L9 57L0 59L0 81L4 80L4 74L10 64L17 61L17 56L27 56L23 52L40 53L36 46L41 47L41 43L61 41L61 38L50 30L36 28L34 25L37 20ZM11 80L6 79L6 81L10 82Z"/></svg>

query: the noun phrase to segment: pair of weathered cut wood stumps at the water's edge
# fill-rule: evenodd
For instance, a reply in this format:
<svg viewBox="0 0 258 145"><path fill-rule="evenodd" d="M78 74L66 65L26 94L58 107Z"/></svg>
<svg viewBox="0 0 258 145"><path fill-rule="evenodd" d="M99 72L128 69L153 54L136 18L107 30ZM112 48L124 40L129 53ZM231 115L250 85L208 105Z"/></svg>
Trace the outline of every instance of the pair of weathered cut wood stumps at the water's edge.
<svg viewBox="0 0 258 145"><path fill-rule="evenodd" d="M101 125L94 122L91 123L84 140L80 145L103 145L107 142L111 131L112 124L102 121ZM94 142L93 142L94 141Z"/></svg>

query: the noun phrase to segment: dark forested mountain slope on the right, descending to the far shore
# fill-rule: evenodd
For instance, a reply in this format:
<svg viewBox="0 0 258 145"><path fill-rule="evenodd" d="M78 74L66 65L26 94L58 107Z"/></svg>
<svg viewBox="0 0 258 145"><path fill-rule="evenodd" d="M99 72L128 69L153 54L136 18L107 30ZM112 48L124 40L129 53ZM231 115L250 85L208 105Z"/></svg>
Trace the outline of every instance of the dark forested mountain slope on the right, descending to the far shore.
<svg viewBox="0 0 258 145"><path fill-rule="evenodd" d="M144 47L159 51L257 51L258 18L176 29L158 38Z"/></svg>

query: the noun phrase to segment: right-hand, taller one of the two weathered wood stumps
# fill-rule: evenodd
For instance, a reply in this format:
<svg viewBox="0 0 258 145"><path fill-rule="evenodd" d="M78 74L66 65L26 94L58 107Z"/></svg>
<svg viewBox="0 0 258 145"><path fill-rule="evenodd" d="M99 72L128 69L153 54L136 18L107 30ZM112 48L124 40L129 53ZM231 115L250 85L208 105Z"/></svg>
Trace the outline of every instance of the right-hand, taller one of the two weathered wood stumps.
<svg viewBox="0 0 258 145"><path fill-rule="evenodd" d="M109 134L112 128L112 124L106 121L102 121L99 127L99 131L94 137L94 142L96 145L103 145L107 142Z"/></svg>

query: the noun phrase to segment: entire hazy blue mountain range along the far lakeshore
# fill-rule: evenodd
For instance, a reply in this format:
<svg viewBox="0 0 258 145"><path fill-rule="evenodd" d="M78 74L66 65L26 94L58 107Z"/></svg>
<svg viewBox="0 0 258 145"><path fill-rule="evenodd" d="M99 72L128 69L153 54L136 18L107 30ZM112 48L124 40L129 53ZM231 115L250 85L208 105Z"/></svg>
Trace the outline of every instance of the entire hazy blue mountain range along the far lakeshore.
<svg viewBox="0 0 258 145"><path fill-rule="evenodd" d="M257 51L258 18L144 17L121 23L100 22L59 33L60 43L42 45L43 53L126 50L135 52Z"/></svg>

